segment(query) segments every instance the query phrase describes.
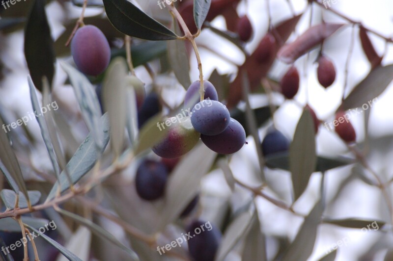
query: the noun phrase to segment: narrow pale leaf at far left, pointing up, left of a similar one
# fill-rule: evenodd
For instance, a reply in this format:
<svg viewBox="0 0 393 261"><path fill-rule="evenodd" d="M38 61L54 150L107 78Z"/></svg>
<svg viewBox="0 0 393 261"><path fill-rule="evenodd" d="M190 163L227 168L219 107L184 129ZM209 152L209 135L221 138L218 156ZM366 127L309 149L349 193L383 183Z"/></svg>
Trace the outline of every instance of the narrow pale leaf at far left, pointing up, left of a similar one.
<svg viewBox="0 0 393 261"><path fill-rule="evenodd" d="M44 140L46 150L48 151L49 154L49 158L51 159L53 169L55 170L56 178L59 179L60 168L57 163L55 149L52 144L51 136L49 134L48 126L45 122L44 115L41 113L41 106L38 103L37 94L35 93L35 86L30 76L28 76L28 87L30 89L30 100L33 110L34 112L38 113L38 117L35 117L35 119L37 120L38 125L40 126L41 136Z"/></svg>

